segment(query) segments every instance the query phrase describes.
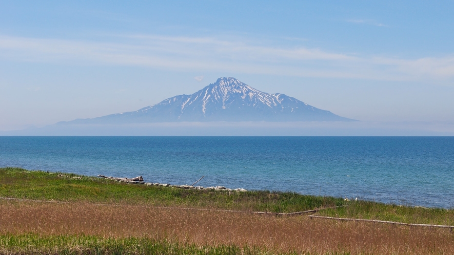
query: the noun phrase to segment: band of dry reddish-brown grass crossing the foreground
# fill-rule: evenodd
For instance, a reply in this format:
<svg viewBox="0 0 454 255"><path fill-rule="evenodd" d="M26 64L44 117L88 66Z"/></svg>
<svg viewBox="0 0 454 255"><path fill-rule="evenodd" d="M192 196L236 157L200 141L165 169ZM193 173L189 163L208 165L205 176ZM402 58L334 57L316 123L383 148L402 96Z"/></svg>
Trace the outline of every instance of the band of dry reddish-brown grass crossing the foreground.
<svg viewBox="0 0 454 255"><path fill-rule="evenodd" d="M279 252L454 254L449 229L90 203L0 201L0 212L0 233L149 237Z"/></svg>

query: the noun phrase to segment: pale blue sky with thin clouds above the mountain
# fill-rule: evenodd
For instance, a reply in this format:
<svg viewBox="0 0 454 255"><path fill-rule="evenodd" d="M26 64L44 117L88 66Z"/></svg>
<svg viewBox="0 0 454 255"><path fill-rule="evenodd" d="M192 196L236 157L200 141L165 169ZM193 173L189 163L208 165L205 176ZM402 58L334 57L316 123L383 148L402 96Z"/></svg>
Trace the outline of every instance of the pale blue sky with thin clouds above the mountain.
<svg viewBox="0 0 454 255"><path fill-rule="evenodd" d="M453 10L0 0L0 131L135 111L219 77L363 122L454 123Z"/></svg>

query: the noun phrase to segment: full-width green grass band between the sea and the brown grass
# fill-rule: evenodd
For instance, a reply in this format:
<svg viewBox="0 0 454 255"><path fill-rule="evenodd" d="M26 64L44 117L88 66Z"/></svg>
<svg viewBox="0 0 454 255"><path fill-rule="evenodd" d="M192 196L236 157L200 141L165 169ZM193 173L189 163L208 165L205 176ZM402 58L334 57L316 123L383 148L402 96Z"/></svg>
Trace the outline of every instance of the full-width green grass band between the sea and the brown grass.
<svg viewBox="0 0 454 255"><path fill-rule="evenodd" d="M320 215L378 219L406 223L454 225L454 210L409 207L370 201L305 196L269 191L228 192L189 190L117 183L75 174L0 168L0 197L70 202L189 206L247 211L290 213L321 207L348 205L320 211Z"/></svg>

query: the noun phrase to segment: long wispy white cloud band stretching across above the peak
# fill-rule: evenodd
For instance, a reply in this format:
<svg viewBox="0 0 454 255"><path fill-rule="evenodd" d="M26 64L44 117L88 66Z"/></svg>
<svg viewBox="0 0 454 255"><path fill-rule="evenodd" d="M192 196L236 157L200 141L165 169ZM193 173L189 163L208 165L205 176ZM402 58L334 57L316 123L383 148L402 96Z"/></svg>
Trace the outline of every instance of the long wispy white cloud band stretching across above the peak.
<svg viewBox="0 0 454 255"><path fill-rule="evenodd" d="M454 79L454 56L367 57L317 48L263 46L242 38L121 35L106 41L0 36L0 58L307 77Z"/></svg>

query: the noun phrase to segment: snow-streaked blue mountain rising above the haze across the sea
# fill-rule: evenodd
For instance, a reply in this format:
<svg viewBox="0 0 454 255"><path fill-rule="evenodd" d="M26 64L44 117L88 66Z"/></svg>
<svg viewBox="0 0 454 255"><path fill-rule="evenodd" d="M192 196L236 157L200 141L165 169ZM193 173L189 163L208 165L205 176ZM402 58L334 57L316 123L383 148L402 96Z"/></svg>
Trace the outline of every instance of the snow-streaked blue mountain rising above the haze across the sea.
<svg viewBox="0 0 454 255"><path fill-rule="evenodd" d="M134 112L65 124L127 124L207 121L356 121L315 108L284 94L256 90L233 77L223 77L192 95L179 95Z"/></svg>

